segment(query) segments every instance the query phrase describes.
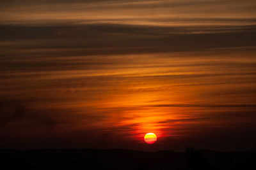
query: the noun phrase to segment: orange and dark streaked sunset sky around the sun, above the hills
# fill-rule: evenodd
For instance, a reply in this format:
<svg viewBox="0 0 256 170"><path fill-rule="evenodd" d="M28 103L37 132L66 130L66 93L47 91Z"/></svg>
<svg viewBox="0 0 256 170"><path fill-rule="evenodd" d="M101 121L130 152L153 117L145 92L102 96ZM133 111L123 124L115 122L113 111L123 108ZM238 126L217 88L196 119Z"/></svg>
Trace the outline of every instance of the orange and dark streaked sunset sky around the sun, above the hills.
<svg viewBox="0 0 256 170"><path fill-rule="evenodd" d="M2 0L0 148L255 150L255 8Z"/></svg>

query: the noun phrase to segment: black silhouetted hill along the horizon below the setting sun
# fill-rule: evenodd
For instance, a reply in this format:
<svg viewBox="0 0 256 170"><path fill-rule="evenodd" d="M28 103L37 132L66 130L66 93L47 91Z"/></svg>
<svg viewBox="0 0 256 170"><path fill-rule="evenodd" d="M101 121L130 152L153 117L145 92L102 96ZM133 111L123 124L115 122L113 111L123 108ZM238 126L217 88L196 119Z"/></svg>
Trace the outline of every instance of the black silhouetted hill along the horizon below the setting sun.
<svg viewBox="0 0 256 170"><path fill-rule="evenodd" d="M0 169L256 169L256 152L0 150ZM3 168L4 167L4 168Z"/></svg>

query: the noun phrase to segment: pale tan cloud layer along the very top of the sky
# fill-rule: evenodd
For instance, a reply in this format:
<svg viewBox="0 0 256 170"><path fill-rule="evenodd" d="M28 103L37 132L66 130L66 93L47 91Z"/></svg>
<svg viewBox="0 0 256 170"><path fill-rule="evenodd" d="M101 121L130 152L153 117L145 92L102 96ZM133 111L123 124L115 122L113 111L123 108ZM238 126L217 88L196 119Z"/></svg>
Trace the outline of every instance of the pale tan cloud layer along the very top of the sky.
<svg viewBox="0 0 256 170"><path fill-rule="evenodd" d="M78 21L136 25L255 24L255 20L252 20L255 18L252 8L255 1L239 2L237 0L1 1L3 17L0 23L54 24ZM227 19L223 21L223 18ZM234 21L233 18L237 20Z"/></svg>

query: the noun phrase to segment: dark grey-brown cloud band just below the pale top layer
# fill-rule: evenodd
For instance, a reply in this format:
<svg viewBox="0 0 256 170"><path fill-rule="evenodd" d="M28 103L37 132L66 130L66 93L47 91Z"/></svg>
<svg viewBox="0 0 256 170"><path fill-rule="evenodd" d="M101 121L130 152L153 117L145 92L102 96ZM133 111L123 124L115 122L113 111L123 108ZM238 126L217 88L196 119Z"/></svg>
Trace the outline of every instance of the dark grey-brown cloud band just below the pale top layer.
<svg viewBox="0 0 256 170"><path fill-rule="evenodd" d="M256 44L255 25L217 28L116 24L2 25L0 30L3 57L10 55L54 57L193 52L211 48L255 46Z"/></svg>

